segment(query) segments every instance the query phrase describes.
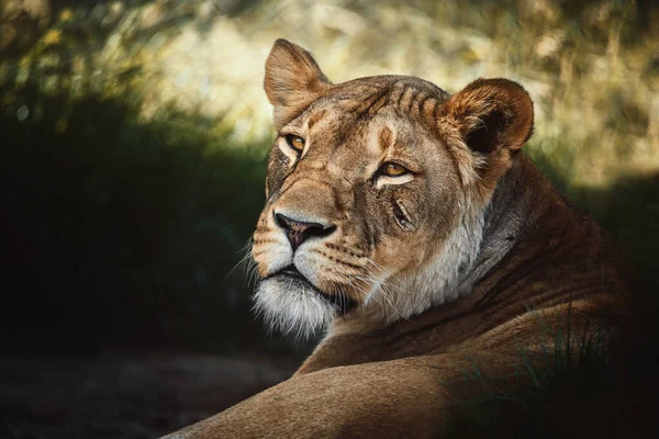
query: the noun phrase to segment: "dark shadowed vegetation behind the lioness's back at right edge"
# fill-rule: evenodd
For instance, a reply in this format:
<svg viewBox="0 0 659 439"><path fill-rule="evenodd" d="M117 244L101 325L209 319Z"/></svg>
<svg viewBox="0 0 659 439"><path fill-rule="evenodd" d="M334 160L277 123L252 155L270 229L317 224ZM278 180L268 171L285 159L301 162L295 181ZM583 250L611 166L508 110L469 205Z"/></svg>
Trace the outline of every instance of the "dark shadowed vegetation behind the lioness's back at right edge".
<svg viewBox="0 0 659 439"><path fill-rule="evenodd" d="M650 376L659 367L659 353L655 348L659 336L659 257L656 252L659 246L659 173L626 176L608 188L574 188L570 198L616 236L629 264L633 289L632 316L621 337L622 346L616 352L618 358L613 363L613 373L604 374L597 381L599 386L585 387L582 393L595 395L593 406L603 408L599 412L593 408L591 419L593 423L607 419L600 420L602 436L654 437L657 421L650 407L657 385ZM589 401L588 397L583 399ZM629 428L622 431L621 426L625 425Z"/></svg>

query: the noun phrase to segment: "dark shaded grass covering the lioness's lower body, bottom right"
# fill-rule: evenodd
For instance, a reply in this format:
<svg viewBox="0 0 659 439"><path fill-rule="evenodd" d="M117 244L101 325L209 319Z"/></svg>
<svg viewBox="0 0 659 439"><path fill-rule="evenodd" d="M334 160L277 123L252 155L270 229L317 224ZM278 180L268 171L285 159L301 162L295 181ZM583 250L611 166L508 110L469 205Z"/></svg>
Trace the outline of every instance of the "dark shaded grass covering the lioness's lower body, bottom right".
<svg viewBox="0 0 659 439"><path fill-rule="evenodd" d="M547 336L552 342L539 349L520 347L511 374L487 375L474 360L446 383L451 423L439 437L649 437L648 383L619 336L593 325Z"/></svg>

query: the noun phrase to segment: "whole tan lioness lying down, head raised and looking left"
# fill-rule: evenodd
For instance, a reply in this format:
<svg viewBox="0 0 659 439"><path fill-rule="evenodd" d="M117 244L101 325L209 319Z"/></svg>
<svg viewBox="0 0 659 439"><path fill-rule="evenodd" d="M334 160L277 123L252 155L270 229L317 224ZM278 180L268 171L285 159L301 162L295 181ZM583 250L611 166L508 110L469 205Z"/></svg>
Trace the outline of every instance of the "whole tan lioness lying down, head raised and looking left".
<svg viewBox="0 0 659 439"><path fill-rule="evenodd" d="M325 337L290 380L169 438L433 436L481 381L455 385L466 371L515 375L521 349L577 352L624 314L610 238L521 151L534 113L517 83L333 85L278 40L265 90L278 136L256 308Z"/></svg>

